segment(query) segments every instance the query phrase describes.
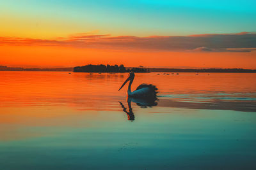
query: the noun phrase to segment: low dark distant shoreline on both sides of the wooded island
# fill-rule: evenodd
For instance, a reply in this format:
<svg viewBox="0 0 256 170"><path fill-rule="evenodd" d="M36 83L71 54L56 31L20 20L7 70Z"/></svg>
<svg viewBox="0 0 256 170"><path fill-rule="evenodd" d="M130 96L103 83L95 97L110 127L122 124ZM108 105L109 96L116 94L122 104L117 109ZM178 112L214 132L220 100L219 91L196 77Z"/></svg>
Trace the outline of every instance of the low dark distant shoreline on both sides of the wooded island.
<svg viewBox="0 0 256 170"><path fill-rule="evenodd" d="M177 68L148 68L149 72L166 73L256 73L256 69L177 69ZM74 67L65 68L22 68L0 66L0 71L63 71L72 72ZM88 72L91 73L91 72ZM99 72L100 73L100 72ZM103 72L102 72L103 73Z"/></svg>

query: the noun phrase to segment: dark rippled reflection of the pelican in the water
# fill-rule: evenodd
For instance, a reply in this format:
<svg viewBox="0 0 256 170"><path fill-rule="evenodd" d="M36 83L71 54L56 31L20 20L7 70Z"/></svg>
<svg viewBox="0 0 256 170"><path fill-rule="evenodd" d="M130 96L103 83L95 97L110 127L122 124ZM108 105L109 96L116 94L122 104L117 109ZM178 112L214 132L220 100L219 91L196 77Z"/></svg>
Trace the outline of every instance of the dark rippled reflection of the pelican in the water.
<svg viewBox="0 0 256 170"><path fill-rule="evenodd" d="M148 108L152 106L157 106L157 97L151 97L151 98L133 98L133 97L127 97L127 104L129 111L125 108L124 104L122 102L119 102L121 107L123 108L123 111L127 114L127 120L130 120L133 122L135 120L134 113L132 111L131 102L136 103L141 108Z"/></svg>

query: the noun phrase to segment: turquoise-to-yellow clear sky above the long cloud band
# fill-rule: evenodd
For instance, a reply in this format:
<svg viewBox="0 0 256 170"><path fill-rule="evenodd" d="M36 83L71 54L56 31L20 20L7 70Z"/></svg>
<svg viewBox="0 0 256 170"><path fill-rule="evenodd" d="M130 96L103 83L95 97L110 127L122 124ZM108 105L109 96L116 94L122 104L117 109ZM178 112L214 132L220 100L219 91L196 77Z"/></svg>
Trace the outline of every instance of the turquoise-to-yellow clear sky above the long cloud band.
<svg viewBox="0 0 256 170"><path fill-rule="evenodd" d="M36 22L45 30L58 32L61 29L63 36L95 30L113 36L184 36L250 32L256 27L256 1L24 0L0 3L4 20L8 16L10 20L24 20L28 26ZM10 31L13 27L26 29L22 23L7 25L6 29Z"/></svg>

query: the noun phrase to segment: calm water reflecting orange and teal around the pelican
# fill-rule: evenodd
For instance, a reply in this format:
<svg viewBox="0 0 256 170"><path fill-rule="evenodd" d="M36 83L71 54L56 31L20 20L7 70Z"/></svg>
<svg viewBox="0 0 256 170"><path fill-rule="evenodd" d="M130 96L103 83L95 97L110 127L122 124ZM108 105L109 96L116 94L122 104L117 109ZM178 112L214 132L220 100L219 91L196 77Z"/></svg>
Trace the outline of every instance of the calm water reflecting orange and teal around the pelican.
<svg viewBox="0 0 256 170"><path fill-rule="evenodd" d="M256 169L256 74L137 73L151 106L126 78L1 71L0 169Z"/></svg>

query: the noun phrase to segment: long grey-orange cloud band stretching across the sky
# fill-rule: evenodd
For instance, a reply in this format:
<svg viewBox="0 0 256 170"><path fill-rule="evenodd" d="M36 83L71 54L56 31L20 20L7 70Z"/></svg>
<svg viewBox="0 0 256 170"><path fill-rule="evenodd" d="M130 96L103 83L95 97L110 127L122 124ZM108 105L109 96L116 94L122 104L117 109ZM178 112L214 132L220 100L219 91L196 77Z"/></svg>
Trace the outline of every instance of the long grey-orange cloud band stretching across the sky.
<svg viewBox="0 0 256 170"><path fill-rule="evenodd" d="M56 39L0 37L0 45L73 46L77 48L184 52L251 52L256 49L256 34L255 32L239 32L236 34L138 37L86 32Z"/></svg>

